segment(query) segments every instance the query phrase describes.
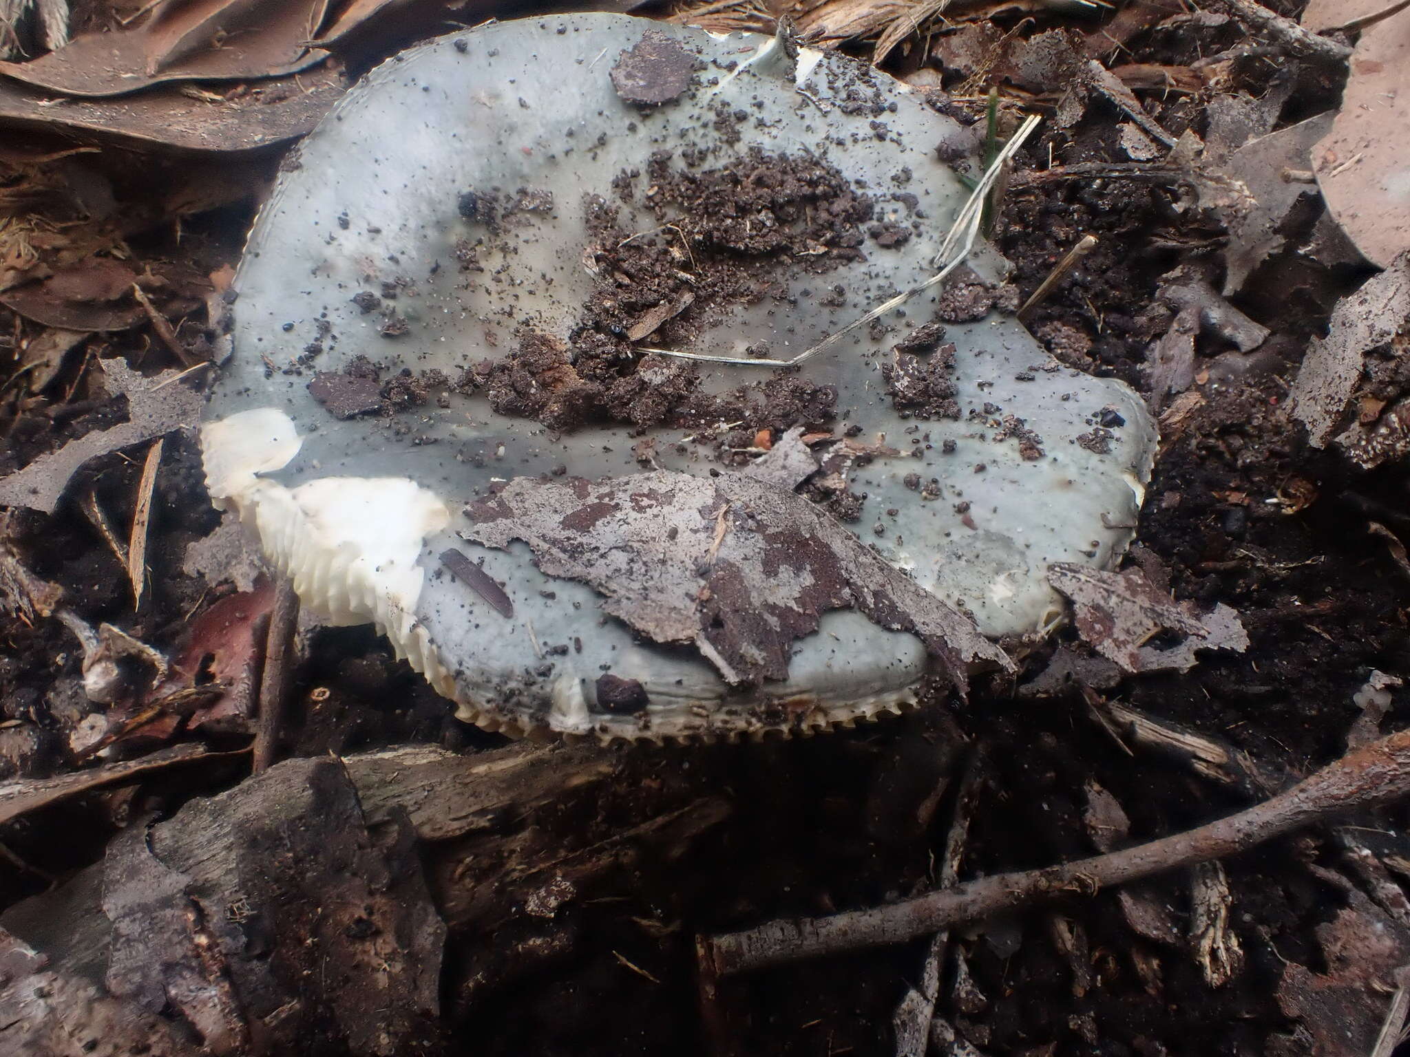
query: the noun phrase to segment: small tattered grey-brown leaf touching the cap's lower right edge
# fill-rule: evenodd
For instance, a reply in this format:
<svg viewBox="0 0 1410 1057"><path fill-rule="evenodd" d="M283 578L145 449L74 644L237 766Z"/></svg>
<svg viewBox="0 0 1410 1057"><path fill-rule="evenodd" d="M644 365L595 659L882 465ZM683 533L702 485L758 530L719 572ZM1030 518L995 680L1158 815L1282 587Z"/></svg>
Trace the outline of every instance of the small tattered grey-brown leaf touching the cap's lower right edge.
<svg viewBox="0 0 1410 1057"><path fill-rule="evenodd" d="M1072 599L1079 634L1127 672L1184 671L1194 662L1194 650L1248 647L1238 616L1228 606L1201 619L1190 603L1176 602L1139 569L1103 572L1059 562L1048 567L1048 579ZM1145 647L1160 631L1179 631L1189 640L1170 650Z"/></svg>

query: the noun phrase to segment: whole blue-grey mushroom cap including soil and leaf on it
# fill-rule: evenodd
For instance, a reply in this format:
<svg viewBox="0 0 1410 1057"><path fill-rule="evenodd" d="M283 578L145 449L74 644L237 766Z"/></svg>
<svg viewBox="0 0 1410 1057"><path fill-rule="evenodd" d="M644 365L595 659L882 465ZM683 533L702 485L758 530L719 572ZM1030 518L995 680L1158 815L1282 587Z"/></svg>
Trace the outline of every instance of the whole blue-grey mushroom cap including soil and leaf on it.
<svg viewBox="0 0 1410 1057"><path fill-rule="evenodd" d="M689 76L651 101L643 62ZM1155 447L1003 314L993 252L931 282L970 148L777 38L577 14L413 48L255 224L212 493L489 729L812 733L931 664L963 686L1007 662L981 634L1058 620L1050 564L1120 557Z"/></svg>

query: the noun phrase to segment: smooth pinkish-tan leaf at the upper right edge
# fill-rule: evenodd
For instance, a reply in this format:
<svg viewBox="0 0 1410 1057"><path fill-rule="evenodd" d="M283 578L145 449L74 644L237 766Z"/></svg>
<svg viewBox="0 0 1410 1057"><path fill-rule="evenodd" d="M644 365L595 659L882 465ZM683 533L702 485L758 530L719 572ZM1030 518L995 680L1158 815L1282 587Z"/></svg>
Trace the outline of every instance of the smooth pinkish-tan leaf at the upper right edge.
<svg viewBox="0 0 1410 1057"><path fill-rule="evenodd" d="M1410 249L1410 10L1368 27L1331 132L1313 151L1327 209L1368 261Z"/></svg>

